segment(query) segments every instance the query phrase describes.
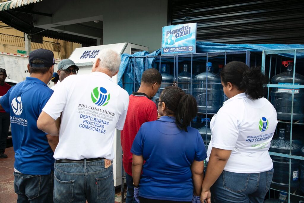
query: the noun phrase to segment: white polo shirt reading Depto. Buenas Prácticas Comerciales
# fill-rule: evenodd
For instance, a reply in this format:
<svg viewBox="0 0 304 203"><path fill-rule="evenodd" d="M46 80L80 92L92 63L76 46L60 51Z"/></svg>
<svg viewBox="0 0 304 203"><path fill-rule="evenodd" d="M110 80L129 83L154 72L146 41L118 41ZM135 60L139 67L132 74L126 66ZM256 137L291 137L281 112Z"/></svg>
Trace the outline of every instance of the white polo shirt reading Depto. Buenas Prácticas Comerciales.
<svg viewBox="0 0 304 203"><path fill-rule="evenodd" d="M55 120L62 112L55 159L114 159L114 131L122 130L129 105L126 90L102 72L70 75L43 111Z"/></svg>

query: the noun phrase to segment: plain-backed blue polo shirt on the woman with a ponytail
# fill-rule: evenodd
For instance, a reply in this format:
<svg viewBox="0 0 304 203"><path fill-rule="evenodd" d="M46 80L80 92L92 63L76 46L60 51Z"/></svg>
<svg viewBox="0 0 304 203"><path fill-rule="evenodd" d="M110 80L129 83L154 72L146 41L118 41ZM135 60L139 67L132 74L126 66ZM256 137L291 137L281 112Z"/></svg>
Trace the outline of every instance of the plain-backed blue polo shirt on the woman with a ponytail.
<svg viewBox="0 0 304 203"><path fill-rule="evenodd" d="M191 164L207 158L202 136L195 128L179 129L174 117L163 116L140 127L131 152L146 163L139 196L169 201L192 201Z"/></svg>

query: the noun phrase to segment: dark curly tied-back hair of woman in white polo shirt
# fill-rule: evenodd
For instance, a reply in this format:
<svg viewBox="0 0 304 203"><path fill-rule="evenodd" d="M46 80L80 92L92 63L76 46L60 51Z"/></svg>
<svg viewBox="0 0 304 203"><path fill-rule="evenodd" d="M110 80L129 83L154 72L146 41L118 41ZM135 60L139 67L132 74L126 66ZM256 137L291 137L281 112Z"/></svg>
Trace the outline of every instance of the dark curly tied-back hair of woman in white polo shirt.
<svg viewBox="0 0 304 203"><path fill-rule="evenodd" d="M225 65L221 72L221 80L227 85L231 82L242 90L252 100L260 99L264 96L264 84L267 83L261 68L249 68L245 63L232 61Z"/></svg>

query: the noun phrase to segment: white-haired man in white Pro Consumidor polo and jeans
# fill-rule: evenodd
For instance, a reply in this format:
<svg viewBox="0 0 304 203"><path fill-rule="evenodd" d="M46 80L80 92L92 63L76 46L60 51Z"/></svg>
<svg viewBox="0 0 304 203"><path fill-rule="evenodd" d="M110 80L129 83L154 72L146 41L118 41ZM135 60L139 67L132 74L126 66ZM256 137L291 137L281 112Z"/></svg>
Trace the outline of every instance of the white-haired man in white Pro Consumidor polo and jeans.
<svg viewBox="0 0 304 203"><path fill-rule="evenodd" d="M64 79L38 118L39 129L59 134L54 202L114 202L114 132L123 129L129 104L128 93L111 80L119 65L116 51L102 50L92 73Z"/></svg>

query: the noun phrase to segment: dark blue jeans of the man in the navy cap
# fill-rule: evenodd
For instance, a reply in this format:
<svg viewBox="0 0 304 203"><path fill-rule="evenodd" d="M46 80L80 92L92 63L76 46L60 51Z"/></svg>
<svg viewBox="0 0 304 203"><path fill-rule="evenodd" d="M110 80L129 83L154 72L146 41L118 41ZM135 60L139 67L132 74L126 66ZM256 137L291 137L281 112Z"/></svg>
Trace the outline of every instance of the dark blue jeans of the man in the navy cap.
<svg viewBox="0 0 304 203"><path fill-rule="evenodd" d="M53 202L53 172L50 175L27 175L14 172L18 203Z"/></svg>

